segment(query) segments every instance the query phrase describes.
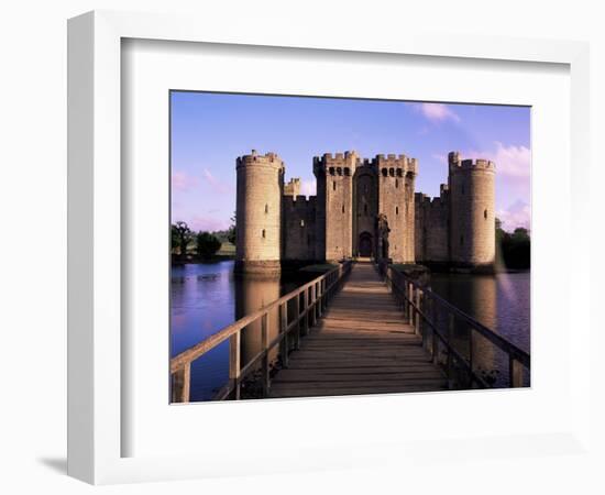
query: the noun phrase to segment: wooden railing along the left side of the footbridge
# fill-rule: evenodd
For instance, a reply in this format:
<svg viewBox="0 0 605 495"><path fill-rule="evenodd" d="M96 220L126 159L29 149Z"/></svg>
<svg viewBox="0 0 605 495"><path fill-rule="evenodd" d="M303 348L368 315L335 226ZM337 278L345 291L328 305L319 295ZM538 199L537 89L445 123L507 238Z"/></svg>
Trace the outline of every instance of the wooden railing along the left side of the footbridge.
<svg viewBox="0 0 605 495"><path fill-rule="evenodd" d="M242 382L253 372L261 371L263 394L271 388L270 355L279 346L278 358L282 366L288 365L288 353L298 349L300 338L309 332L326 310L329 300L338 292L344 278L351 272L351 262L344 262L330 272L301 285L279 299L241 318L208 339L187 349L170 360L172 402L188 403L191 384L191 363L229 339L229 381L215 396L215 400L239 399ZM294 312L288 318L288 306ZM277 337L270 340L270 314L278 311ZM258 324L253 324L257 323ZM261 332L261 350L246 363L242 363L242 332L255 327Z"/></svg>

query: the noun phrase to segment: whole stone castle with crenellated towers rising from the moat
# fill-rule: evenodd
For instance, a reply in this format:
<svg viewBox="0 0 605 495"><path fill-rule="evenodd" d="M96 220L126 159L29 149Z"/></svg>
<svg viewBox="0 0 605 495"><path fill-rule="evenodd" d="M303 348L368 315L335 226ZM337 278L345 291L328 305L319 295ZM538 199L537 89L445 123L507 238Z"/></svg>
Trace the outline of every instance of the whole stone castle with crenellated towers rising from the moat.
<svg viewBox="0 0 605 495"><path fill-rule="evenodd" d="M237 160L235 268L372 257L446 268L491 270L495 257L495 165L448 156L438 198L415 191L418 162L355 152L314 158L317 195L284 182L275 153Z"/></svg>

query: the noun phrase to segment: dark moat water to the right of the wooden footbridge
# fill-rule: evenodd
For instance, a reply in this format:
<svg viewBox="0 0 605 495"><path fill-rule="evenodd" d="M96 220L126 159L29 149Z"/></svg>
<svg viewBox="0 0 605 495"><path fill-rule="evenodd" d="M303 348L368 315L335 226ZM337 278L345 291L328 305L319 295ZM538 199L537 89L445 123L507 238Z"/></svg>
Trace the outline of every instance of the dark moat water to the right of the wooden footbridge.
<svg viewBox="0 0 605 495"><path fill-rule="evenodd" d="M526 352L530 352L530 274L498 275L432 274L432 289L444 299L502 334ZM457 321L459 350L468 355L468 329ZM481 336L473 349L475 362L495 373L496 385L508 383L508 359ZM526 373L526 385L529 376Z"/></svg>

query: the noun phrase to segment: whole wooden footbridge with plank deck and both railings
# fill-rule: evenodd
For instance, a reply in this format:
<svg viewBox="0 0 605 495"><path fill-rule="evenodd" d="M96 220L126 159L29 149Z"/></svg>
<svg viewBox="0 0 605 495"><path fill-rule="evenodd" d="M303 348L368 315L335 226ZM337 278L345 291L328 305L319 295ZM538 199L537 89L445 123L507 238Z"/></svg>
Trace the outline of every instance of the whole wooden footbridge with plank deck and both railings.
<svg viewBox="0 0 605 495"><path fill-rule="evenodd" d="M244 363L245 331L260 333L260 345ZM173 402L189 402L191 362L226 340L230 376L218 400L486 388L494 383L474 359L479 341L506 355L498 386L522 386L530 363L429 288L372 263L343 263L173 358Z"/></svg>

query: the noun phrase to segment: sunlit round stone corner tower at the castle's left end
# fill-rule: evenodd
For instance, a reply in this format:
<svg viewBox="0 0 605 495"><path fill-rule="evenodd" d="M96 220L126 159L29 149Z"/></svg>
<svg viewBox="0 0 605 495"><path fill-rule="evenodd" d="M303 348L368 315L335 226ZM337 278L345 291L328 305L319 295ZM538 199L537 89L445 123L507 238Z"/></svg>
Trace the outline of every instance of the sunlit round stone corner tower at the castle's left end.
<svg viewBox="0 0 605 495"><path fill-rule="evenodd" d="M280 271L284 163L275 153L237 161L235 271L272 274Z"/></svg>

